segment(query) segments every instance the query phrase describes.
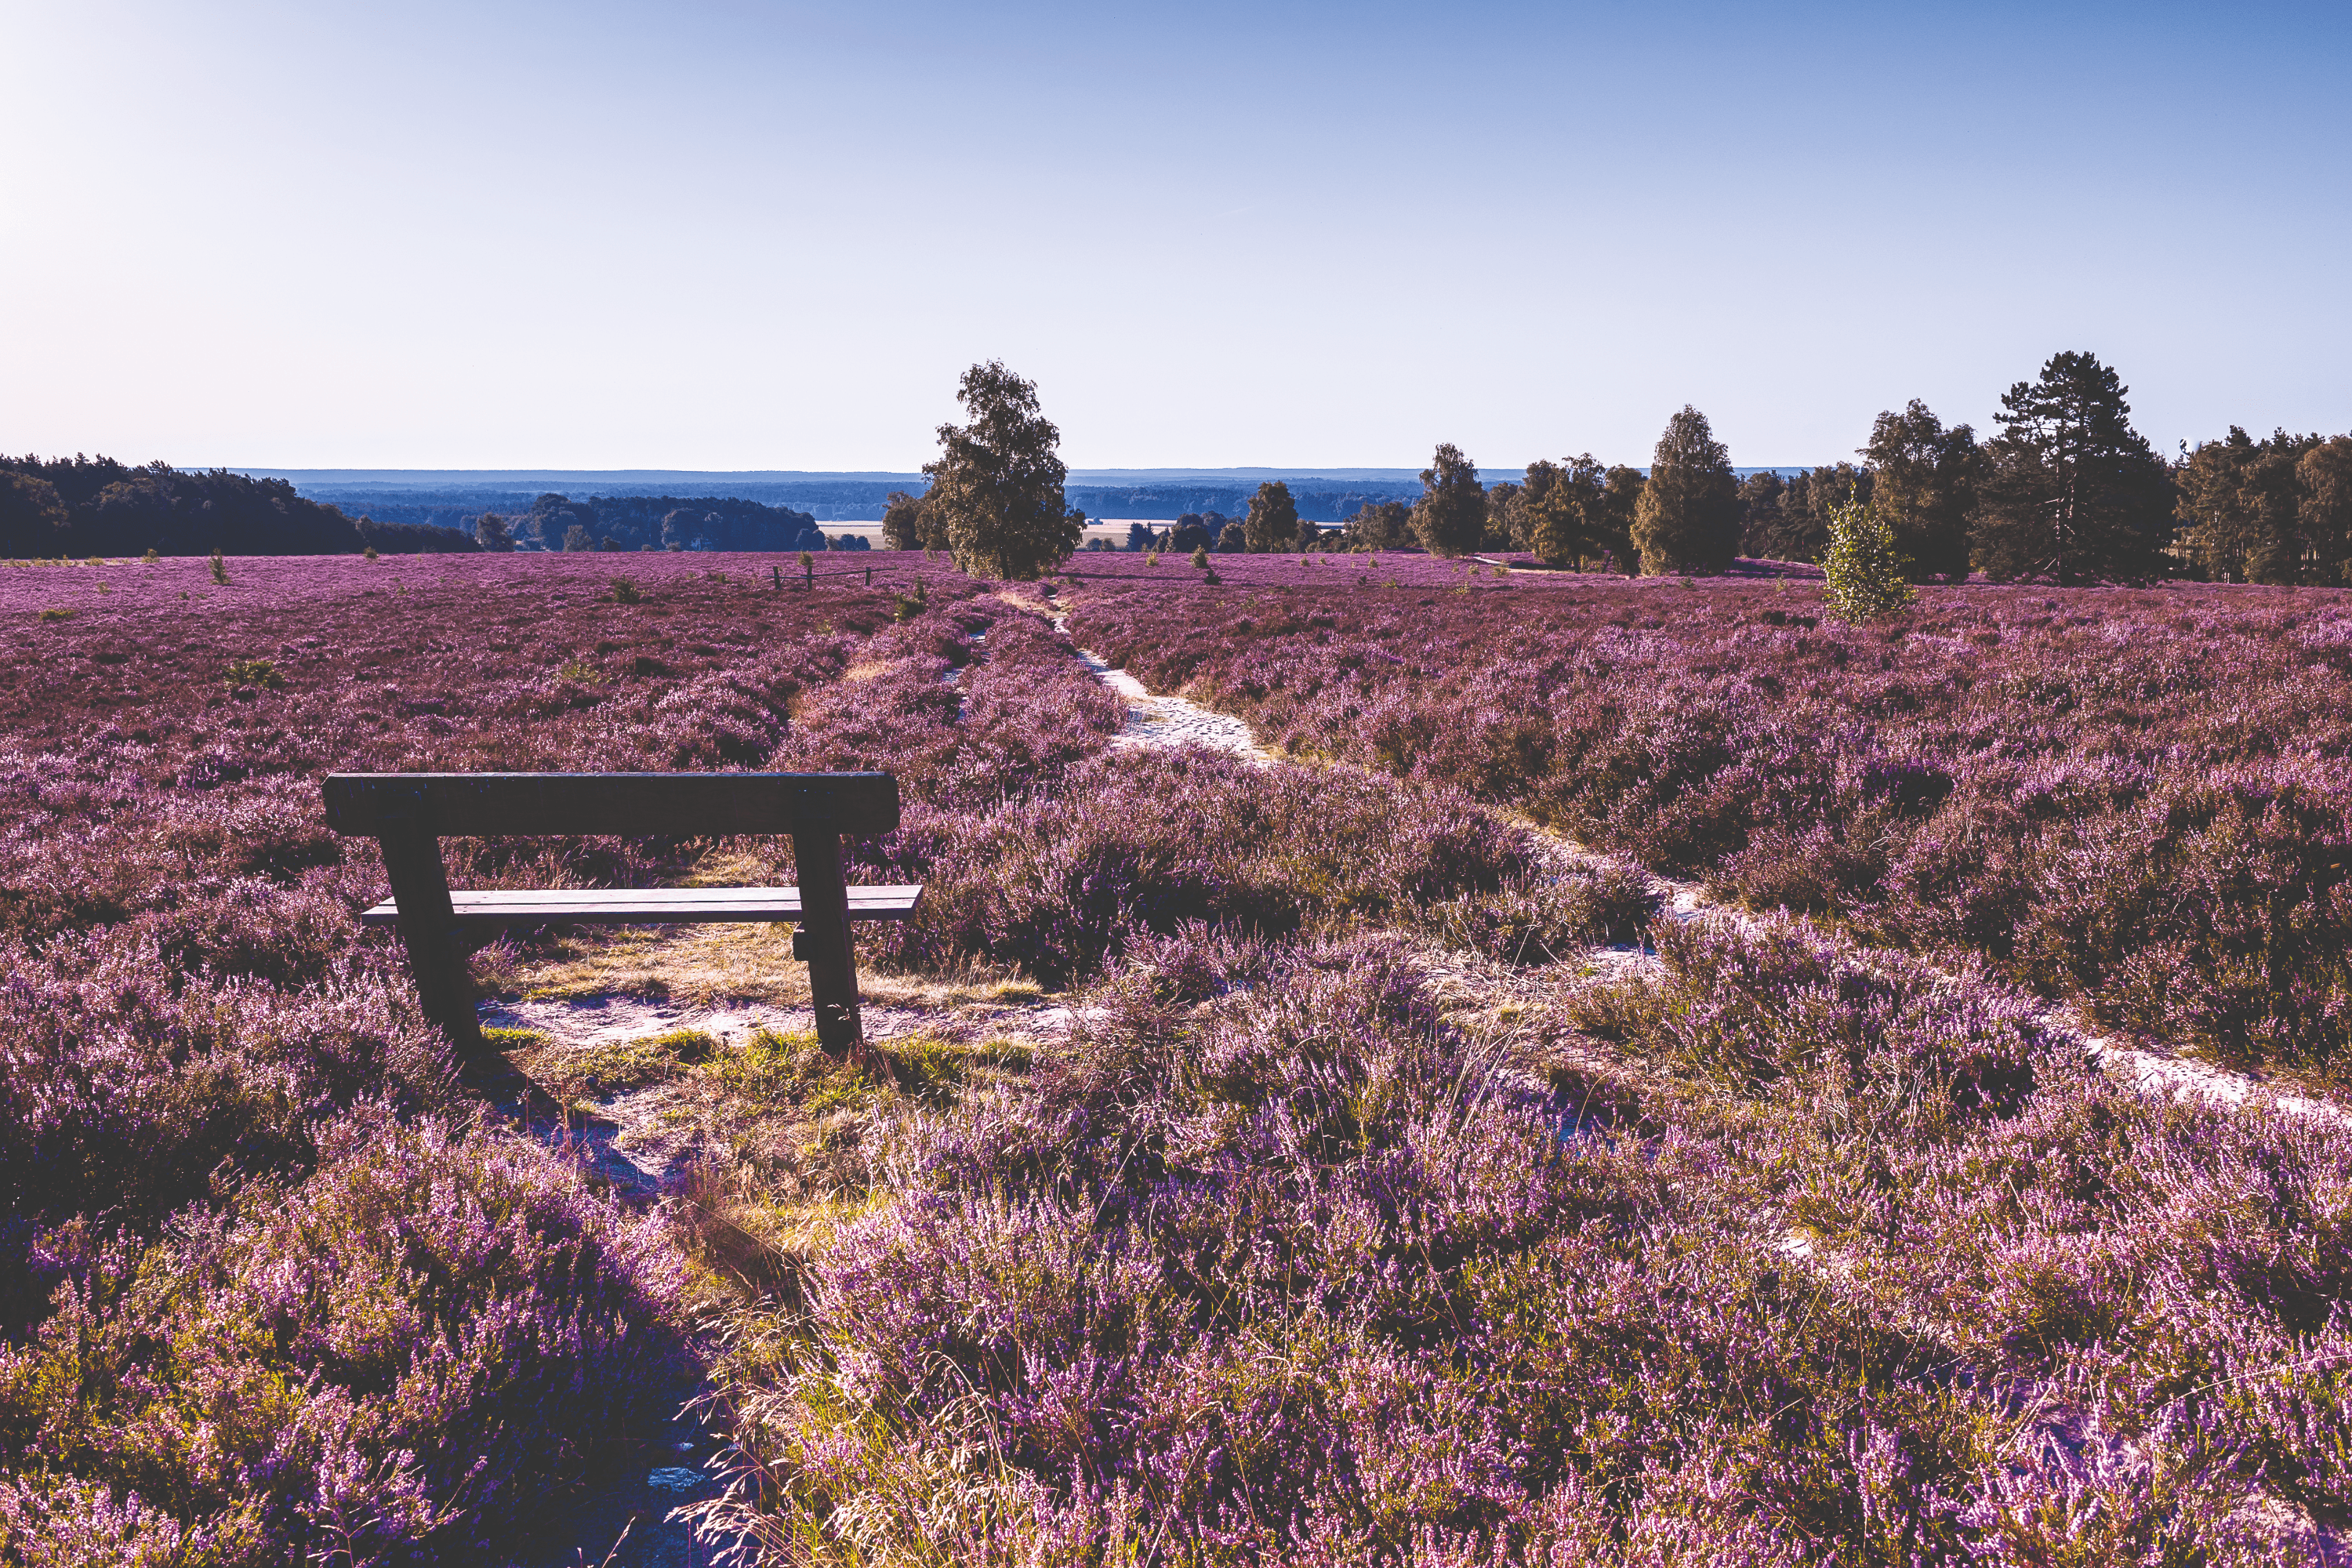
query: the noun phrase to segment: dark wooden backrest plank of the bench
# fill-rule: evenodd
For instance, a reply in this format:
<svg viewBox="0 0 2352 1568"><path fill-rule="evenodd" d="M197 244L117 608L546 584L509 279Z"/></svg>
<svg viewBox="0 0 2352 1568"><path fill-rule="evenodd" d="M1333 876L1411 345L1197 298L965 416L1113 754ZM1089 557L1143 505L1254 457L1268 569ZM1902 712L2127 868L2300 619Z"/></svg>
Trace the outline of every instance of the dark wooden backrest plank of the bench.
<svg viewBox="0 0 2352 1568"><path fill-rule="evenodd" d="M898 827L889 773L329 773L327 825L381 835L419 811L433 835L880 837Z"/></svg>

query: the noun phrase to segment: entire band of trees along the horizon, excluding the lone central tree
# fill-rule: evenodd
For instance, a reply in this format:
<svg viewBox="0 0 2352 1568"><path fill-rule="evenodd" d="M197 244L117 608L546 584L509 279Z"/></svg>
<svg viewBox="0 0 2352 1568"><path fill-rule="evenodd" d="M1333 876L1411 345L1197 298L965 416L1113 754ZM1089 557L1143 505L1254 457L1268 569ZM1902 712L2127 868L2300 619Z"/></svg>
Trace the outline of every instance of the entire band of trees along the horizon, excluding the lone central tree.
<svg viewBox="0 0 2352 1568"><path fill-rule="evenodd" d="M1837 505L1870 508L1915 581L2056 583L2192 578L2223 583L2352 581L2352 435L2225 437L2157 456L2131 425L2129 388L2091 353L2058 353L2034 381L2002 397L1994 435L1945 425L1924 402L1884 411L1860 463L1738 470L1708 418L1684 407L1651 463L1590 454L1529 463L1486 480L1439 444L1414 498L1294 491L1270 480L1249 494L1134 489L1127 501L1228 494L1232 515L1202 505L1167 529L1134 524L1127 550L1522 550L1545 567L1635 574L1715 574L1736 557L1820 562ZM1056 458L1058 470L1058 458ZM929 470L927 470L929 473ZM1054 510L1117 491L1056 487ZM1357 498L1359 496L1359 498ZM1317 512L1355 498L1324 527ZM1105 501L1096 498L1096 505ZM1117 501L1110 501L1117 505ZM405 508L445 517L447 505ZM927 520L922 484L882 498L887 548L948 548ZM273 477L186 473L167 463L0 456L0 557L78 555L341 555L470 550L842 550L863 534L826 536L811 512L748 498L541 494L527 508L456 520L346 517ZM1105 538L1089 550L1117 548Z"/></svg>

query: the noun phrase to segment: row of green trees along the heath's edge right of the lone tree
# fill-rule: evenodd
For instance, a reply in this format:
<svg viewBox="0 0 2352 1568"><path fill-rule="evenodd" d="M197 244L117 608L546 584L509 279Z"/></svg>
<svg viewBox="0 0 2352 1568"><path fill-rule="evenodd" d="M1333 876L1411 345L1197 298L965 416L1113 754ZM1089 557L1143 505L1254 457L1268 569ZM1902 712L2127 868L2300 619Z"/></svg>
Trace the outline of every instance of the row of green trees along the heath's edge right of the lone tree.
<svg viewBox="0 0 2352 1568"><path fill-rule="evenodd" d="M1915 583L1994 581L2352 585L2352 435L2253 437L2241 428L2166 463L2131 428L2114 367L2051 355L2002 395L1994 435L1945 425L1924 402L1886 409L1856 463L1783 477L1731 468L1705 414L1668 421L1646 470L1592 454L1529 463L1489 484L1442 442L1421 494L1367 501L1336 531L1305 520L1279 480L1242 517L1188 512L1134 524L1129 550L1526 550L1548 567L1715 574L1736 557L1825 562L1832 534L1884 531ZM887 541L929 543L929 503L894 496ZM1112 548L1101 541L1094 548Z"/></svg>

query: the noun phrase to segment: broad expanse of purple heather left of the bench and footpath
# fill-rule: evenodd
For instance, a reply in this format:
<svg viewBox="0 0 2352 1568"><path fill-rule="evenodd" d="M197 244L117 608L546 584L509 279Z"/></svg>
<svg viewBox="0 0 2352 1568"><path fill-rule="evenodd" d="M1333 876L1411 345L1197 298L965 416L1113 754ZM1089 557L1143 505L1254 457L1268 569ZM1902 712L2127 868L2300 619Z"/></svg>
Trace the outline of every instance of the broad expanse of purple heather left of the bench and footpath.
<svg viewBox="0 0 2352 1568"><path fill-rule="evenodd" d="M0 574L0 1561L463 1559L670 1394L677 1262L567 1161L435 1119L452 1063L318 776L764 764L887 590L202 567ZM675 846L449 858L652 879Z"/></svg>

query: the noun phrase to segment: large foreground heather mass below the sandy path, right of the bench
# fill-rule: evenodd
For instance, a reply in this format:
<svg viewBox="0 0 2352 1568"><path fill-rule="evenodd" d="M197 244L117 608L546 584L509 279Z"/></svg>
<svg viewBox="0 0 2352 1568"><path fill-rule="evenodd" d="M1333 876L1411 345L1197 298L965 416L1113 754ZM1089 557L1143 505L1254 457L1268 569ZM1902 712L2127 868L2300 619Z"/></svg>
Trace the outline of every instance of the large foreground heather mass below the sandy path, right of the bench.
<svg viewBox="0 0 2352 1568"><path fill-rule="evenodd" d="M1073 1056L910 1124L809 1312L746 1338L708 1514L779 1559L1903 1566L2307 1547L2256 1486L2343 1516L2338 1340L2272 1298L2211 1298L2213 1387L2173 1349L2100 1380L2173 1345L2171 1298L2119 1281L2112 1333L1962 1319L1966 1260L1867 1248L1900 1204L2018 1192L1962 1164L2004 1138L2098 1204L2074 1161L2176 1112L1983 987L1795 926L1670 940L1663 987L1592 1004L1646 1063L1621 1081L1463 1034L1383 938L1138 940ZM2281 1234L2340 1267L2333 1225ZM2216 1232L2126 1234L2211 1279ZM2037 1237L2084 1244L2013 1211L2004 1244ZM1987 1349L1985 1319L2044 1352ZM2256 1375L2281 1349L2326 1371Z"/></svg>

